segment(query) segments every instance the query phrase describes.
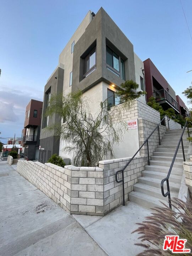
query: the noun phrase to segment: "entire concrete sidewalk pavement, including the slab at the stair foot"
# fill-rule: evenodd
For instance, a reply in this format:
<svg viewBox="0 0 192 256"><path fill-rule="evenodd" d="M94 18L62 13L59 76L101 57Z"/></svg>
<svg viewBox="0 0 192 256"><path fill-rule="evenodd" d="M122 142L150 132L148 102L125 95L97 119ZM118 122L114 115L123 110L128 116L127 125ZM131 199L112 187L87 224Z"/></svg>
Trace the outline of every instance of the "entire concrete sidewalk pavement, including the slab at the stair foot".
<svg viewBox="0 0 192 256"><path fill-rule="evenodd" d="M0 162L1 256L136 256L131 234L150 210L129 202L104 217L70 215Z"/></svg>

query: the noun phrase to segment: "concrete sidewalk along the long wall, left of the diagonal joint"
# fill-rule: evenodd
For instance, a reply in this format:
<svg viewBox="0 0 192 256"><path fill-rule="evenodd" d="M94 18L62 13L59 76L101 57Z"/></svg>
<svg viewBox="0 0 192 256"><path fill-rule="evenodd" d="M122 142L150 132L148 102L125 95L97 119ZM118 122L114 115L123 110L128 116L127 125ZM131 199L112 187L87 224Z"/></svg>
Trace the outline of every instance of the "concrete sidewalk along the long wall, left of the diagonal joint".
<svg viewBox="0 0 192 256"><path fill-rule="evenodd" d="M107 255L73 216L0 160L1 256Z"/></svg>

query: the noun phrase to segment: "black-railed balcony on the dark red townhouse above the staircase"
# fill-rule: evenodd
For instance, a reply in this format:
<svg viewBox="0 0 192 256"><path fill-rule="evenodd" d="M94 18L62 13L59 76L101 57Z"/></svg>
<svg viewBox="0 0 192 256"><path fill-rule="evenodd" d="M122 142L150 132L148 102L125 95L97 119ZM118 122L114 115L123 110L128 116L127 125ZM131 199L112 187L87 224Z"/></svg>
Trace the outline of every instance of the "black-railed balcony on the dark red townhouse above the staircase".
<svg viewBox="0 0 192 256"><path fill-rule="evenodd" d="M168 107L174 108L177 112L179 112L179 105L177 101L169 94L165 89L161 89L159 91L153 92L153 97L159 104L168 105Z"/></svg>

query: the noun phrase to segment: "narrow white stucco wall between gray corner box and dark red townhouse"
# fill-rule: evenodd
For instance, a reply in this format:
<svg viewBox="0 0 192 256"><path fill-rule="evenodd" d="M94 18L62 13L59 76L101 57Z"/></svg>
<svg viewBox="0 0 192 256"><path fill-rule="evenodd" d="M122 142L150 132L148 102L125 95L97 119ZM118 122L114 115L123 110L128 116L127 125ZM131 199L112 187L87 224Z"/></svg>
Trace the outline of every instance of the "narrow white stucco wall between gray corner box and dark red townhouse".
<svg viewBox="0 0 192 256"><path fill-rule="evenodd" d="M137 91L142 91L141 90L140 76L144 80L143 72L142 72L142 69L144 69L144 65L143 65L142 60L139 59L139 57L137 56L136 53L134 53L134 60L135 60L135 79L136 79L136 83L139 85L139 88L137 89ZM139 97L139 100L142 101L143 103L146 103L146 96L142 95L141 97Z"/></svg>

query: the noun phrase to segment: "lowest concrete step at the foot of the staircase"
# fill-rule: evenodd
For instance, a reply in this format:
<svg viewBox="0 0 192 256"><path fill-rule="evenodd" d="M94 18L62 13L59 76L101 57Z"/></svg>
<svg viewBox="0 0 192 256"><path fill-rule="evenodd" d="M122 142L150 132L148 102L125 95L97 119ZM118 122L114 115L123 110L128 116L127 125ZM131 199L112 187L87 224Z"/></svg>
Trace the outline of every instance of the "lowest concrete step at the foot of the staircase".
<svg viewBox="0 0 192 256"><path fill-rule="evenodd" d="M163 204L160 202L159 198L149 196L141 192L132 191L128 194L128 197L131 202L135 202L140 206L148 209L154 208L154 207L163 207ZM165 200L162 200L162 201L166 205L169 205L168 202L166 202Z"/></svg>

